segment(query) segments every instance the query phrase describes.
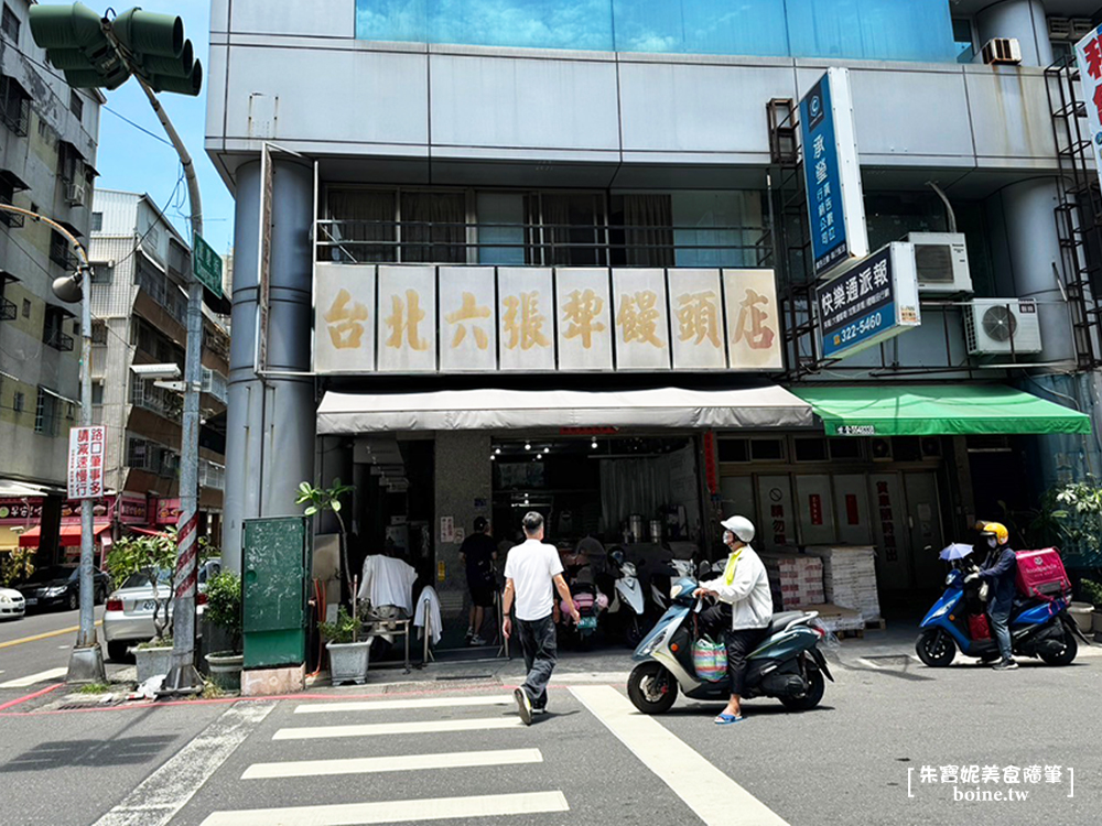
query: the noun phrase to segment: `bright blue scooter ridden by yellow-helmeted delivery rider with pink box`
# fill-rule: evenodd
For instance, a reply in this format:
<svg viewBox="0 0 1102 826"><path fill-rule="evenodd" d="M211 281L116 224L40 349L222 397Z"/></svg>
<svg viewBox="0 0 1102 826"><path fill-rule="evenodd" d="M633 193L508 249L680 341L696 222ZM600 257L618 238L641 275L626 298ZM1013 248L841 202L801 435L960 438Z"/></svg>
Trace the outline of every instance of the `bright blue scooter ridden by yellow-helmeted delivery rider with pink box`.
<svg viewBox="0 0 1102 826"><path fill-rule="evenodd" d="M998 659L998 643L988 639L973 640L968 616L983 610L979 585L964 584L965 572L954 566L946 577L946 593L926 615L915 649L930 667L944 667L957 655L975 656L984 662ZM1011 610L1011 643L1020 656L1039 656L1049 665L1068 665L1079 653L1079 638L1088 645L1074 620L1068 616L1066 599L1015 599Z"/></svg>

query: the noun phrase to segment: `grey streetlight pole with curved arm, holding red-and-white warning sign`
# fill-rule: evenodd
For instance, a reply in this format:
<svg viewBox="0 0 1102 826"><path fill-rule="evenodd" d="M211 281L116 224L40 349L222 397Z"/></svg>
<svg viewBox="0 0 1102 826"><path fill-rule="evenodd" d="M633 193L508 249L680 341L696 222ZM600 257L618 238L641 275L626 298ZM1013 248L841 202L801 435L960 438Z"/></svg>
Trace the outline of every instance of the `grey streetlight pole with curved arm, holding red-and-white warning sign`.
<svg viewBox="0 0 1102 826"><path fill-rule="evenodd" d="M76 272L56 279L53 291L64 302L69 304L80 302L80 426L91 427L91 291L88 283L91 281L91 267L88 263L88 253L72 232L52 218L8 204L0 204L0 210L24 215L50 225L61 232L77 252L79 263ZM84 499L80 502L80 628L76 645L69 654L67 680L71 683L102 683L107 680L104 671L104 652L96 639L95 593L91 582L94 507L94 499Z"/></svg>

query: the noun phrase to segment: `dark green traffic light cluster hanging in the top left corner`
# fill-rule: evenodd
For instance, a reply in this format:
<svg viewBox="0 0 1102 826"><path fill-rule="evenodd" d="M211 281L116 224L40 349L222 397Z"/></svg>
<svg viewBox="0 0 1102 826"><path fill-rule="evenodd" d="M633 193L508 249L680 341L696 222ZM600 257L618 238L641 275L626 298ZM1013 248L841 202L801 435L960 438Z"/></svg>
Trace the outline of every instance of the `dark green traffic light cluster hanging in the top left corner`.
<svg viewBox="0 0 1102 826"><path fill-rule="evenodd" d="M203 65L173 14L130 9L108 20L80 3L39 3L31 34L74 87L115 89L133 72L154 91L194 96L203 88Z"/></svg>

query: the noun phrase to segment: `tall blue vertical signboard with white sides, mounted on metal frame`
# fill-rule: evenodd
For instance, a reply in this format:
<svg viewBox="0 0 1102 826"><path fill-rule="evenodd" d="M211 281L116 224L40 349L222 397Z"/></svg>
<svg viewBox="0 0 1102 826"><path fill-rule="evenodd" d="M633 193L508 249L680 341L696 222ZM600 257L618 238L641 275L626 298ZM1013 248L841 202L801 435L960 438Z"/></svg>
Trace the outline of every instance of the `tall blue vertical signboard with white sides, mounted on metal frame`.
<svg viewBox="0 0 1102 826"><path fill-rule="evenodd" d="M814 274L868 254L847 69L827 70L800 100Z"/></svg>

